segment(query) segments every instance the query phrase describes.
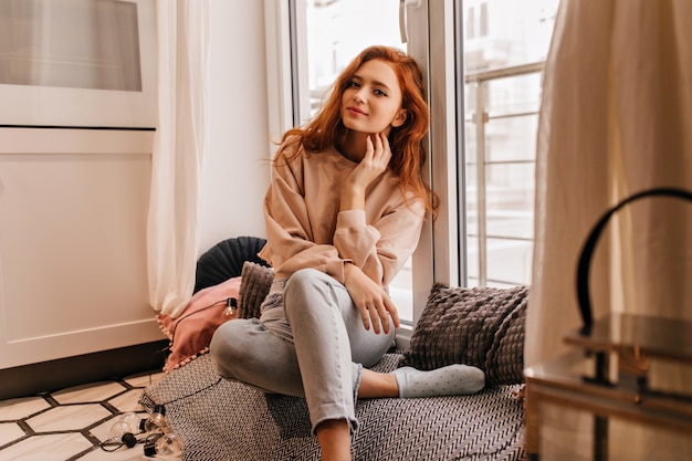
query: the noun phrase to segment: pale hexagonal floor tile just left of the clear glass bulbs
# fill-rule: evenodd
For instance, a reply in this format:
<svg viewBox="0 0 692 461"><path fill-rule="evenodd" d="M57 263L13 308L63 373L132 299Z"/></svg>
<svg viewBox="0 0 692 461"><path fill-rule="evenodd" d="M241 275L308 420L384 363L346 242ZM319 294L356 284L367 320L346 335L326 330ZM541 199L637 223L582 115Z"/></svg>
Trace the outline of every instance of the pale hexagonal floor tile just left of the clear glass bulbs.
<svg viewBox="0 0 692 461"><path fill-rule="evenodd" d="M98 404L69 405L51 408L27 423L36 432L81 430L111 415Z"/></svg>

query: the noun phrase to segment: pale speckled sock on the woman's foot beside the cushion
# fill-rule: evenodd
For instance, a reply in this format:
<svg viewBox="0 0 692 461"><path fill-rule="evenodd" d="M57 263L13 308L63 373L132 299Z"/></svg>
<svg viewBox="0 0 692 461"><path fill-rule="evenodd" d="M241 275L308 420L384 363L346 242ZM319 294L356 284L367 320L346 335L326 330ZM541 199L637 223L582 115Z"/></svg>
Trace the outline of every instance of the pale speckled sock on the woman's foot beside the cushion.
<svg viewBox="0 0 692 461"><path fill-rule="evenodd" d="M401 367L391 373L401 398L466 396L485 386L483 370L469 365L448 365L429 371Z"/></svg>

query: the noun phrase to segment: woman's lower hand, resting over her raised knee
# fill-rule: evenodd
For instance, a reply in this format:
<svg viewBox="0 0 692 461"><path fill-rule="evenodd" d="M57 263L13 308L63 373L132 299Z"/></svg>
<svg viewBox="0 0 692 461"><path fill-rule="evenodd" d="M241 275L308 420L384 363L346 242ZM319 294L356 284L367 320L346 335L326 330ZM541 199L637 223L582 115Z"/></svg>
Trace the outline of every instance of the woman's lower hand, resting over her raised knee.
<svg viewBox="0 0 692 461"><path fill-rule="evenodd" d="M387 292L354 264L347 264L346 272L344 284L360 312L365 329L371 326L377 334L389 334L392 325L398 328L399 312Z"/></svg>

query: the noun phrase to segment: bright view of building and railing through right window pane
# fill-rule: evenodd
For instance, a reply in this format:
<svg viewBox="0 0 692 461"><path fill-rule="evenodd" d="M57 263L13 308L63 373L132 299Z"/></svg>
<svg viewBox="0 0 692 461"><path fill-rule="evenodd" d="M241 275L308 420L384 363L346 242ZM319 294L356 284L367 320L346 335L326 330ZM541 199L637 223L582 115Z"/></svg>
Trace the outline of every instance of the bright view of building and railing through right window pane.
<svg viewBox="0 0 692 461"><path fill-rule="evenodd" d="M465 0L469 286L531 283L541 78L558 0ZM479 13L479 11L481 13Z"/></svg>

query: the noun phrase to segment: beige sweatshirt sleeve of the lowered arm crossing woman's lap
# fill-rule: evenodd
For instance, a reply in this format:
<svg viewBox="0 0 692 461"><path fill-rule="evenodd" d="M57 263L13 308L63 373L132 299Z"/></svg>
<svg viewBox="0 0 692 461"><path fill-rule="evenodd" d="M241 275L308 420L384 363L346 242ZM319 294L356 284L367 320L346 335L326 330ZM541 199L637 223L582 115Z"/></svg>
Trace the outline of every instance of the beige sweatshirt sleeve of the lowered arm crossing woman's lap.
<svg viewBox="0 0 692 461"><path fill-rule="evenodd" d="M344 281L344 261L332 244L317 244L305 203L300 159L274 164L264 198L268 244L260 256L277 275L289 276L301 269L316 269Z"/></svg>

